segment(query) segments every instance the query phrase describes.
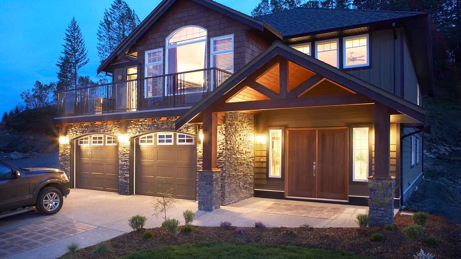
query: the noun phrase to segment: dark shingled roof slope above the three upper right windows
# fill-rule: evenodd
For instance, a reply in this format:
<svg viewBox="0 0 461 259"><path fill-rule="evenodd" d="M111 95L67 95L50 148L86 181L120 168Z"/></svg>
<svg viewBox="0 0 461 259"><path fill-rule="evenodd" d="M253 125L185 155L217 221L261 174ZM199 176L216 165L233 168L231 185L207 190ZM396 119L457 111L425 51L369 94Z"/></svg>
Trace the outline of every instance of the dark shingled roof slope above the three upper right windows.
<svg viewBox="0 0 461 259"><path fill-rule="evenodd" d="M357 27L389 20L426 15L424 12L294 8L282 12L266 14L257 19L271 25L284 38L308 35L332 29Z"/></svg>

